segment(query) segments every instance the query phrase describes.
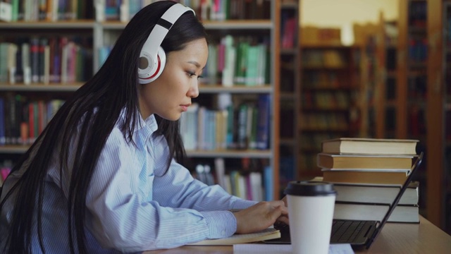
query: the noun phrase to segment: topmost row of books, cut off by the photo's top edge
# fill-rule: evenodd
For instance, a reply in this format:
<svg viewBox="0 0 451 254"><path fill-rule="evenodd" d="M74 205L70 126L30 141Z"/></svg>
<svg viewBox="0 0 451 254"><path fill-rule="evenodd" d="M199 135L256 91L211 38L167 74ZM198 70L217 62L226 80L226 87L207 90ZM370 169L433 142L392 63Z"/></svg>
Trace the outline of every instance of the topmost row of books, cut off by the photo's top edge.
<svg viewBox="0 0 451 254"><path fill-rule="evenodd" d="M157 0L10 0L7 21L92 19L128 22L141 8ZM179 0L202 20L269 19L271 1Z"/></svg>

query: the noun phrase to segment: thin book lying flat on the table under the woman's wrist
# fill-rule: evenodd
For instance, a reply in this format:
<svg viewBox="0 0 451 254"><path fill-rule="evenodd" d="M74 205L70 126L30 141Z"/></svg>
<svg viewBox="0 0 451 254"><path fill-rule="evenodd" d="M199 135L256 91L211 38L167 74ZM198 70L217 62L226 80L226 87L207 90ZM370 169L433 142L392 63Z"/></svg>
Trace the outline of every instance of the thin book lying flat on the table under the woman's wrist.
<svg viewBox="0 0 451 254"><path fill-rule="evenodd" d="M239 243L255 243L270 239L280 238L280 231L274 228L264 229L251 234L234 234L227 238L208 239L197 243L190 243L190 246L230 246Z"/></svg>

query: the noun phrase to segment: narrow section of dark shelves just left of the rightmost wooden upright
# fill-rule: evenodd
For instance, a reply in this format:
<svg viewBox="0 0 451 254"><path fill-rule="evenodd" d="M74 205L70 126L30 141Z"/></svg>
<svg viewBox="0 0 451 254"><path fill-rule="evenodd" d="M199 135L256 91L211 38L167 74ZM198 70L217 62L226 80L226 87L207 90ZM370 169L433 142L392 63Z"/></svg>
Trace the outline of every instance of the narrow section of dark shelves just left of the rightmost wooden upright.
<svg viewBox="0 0 451 254"><path fill-rule="evenodd" d="M428 6L424 0L401 0L397 20L396 87L393 97L396 109L395 138L420 140L417 153L425 159L415 181L419 181L420 214L428 217L429 174L431 170L429 137L426 125L428 114ZM393 117L394 118L394 117ZM429 131L433 131L432 128ZM427 147L427 150L426 150Z"/></svg>

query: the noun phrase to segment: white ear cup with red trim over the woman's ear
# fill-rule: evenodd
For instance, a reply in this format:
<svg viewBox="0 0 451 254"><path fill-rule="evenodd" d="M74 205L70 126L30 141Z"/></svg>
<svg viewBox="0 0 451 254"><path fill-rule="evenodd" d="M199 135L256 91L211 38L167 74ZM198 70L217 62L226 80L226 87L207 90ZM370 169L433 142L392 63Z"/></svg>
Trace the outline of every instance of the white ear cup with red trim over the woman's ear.
<svg viewBox="0 0 451 254"><path fill-rule="evenodd" d="M162 47L158 48L156 58L153 58L147 52L141 52L138 68L140 84L148 84L156 80L163 73L164 66L166 66L166 53Z"/></svg>

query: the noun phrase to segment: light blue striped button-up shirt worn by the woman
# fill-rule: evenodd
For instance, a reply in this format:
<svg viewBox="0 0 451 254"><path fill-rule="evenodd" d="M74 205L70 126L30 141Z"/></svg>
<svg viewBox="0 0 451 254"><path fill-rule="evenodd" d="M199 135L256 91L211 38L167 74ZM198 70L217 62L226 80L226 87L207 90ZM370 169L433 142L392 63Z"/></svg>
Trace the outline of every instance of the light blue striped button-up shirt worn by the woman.
<svg viewBox="0 0 451 254"><path fill-rule="evenodd" d="M122 117L106 141L87 193L85 229L89 253L174 248L234 234L236 220L228 210L246 208L255 202L229 195L217 185L206 186L174 160L163 175L168 146L163 136L152 137L157 129L153 115L140 119L135 128L136 146L125 141L119 129L121 124ZM2 200L22 174L16 171L4 183ZM60 176L56 167L51 167L47 174L42 218L47 253L67 253L69 249L66 209L69 176L70 172ZM3 241L11 219L11 205L8 201L1 211ZM34 253L40 253L37 234L32 243Z"/></svg>

